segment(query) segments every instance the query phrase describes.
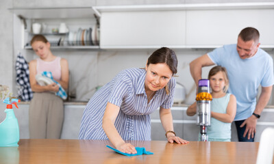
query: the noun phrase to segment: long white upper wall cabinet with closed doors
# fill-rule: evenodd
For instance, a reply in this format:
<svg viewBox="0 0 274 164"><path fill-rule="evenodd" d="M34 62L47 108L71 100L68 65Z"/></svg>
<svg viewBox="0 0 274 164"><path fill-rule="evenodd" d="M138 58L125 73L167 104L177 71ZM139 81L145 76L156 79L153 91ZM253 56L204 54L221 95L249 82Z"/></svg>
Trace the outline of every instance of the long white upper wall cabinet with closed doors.
<svg viewBox="0 0 274 164"><path fill-rule="evenodd" d="M213 49L256 27L261 48L274 48L274 3L97 6L101 49Z"/></svg>

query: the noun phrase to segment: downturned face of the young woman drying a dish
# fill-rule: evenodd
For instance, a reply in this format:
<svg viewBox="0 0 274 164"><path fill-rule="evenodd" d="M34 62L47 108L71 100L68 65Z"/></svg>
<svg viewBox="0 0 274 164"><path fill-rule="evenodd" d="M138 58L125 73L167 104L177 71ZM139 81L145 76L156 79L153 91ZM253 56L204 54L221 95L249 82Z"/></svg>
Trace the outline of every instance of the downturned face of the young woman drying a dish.
<svg viewBox="0 0 274 164"><path fill-rule="evenodd" d="M41 59L45 59L48 57L50 51L49 48L49 42L45 43L42 41L36 41L32 44L32 49L34 49L36 55L38 55Z"/></svg>

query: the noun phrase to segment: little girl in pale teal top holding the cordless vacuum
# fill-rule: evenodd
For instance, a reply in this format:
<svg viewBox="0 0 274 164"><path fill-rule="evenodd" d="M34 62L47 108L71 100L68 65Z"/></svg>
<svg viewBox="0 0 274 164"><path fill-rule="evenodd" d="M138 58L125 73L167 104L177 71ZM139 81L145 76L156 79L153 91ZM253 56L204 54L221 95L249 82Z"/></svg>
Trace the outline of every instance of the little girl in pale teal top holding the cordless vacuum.
<svg viewBox="0 0 274 164"><path fill-rule="evenodd" d="M229 87L227 70L224 67L215 66L210 70L208 79L212 89L211 124L207 131L208 141L230 141L231 124L236 115L236 97L226 93ZM190 105L186 111L186 114L190 116L195 113L196 102Z"/></svg>

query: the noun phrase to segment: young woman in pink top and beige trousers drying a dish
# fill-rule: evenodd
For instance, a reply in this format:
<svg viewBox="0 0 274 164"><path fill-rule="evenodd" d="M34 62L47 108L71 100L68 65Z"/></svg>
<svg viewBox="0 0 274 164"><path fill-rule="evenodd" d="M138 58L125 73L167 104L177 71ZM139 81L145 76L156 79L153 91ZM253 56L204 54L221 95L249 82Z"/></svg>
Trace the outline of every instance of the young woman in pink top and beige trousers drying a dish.
<svg viewBox="0 0 274 164"><path fill-rule="evenodd" d="M45 36L34 36L31 45L39 58L29 62L29 82L34 92L29 105L29 137L59 139L64 118L63 100L54 94L59 86L56 83L39 85L36 74L51 72L53 79L66 90L69 85L69 64L66 59L51 53L51 44Z"/></svg>

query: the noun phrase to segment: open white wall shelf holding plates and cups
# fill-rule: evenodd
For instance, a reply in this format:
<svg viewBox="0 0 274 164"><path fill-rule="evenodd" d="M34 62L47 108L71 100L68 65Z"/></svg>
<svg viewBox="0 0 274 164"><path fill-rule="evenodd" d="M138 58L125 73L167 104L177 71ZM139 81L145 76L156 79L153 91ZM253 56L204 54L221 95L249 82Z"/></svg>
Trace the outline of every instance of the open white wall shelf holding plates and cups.
<svg viewBox="0 0 274 164"><path fill-rule="evenodd" d="M64 44L65 38L66 40L69 39L69 33L51 33L51 29L58 29L60 22L66 23L72 32L79 32L79 29L91 28L94 27L94 25L99 27L99 19L97 18L95 11L92 10L92 7L10 8L9 10L21 20L21 49L32 49L32 47L29 46L29 40L34 36L34 33L32 33L32 23L40 23L42 25L42 33L40 34L46 38L50 37L50 40L47 38L49 42L54 41L51 45L52 49L99 49L97 44L95 44L95 46L91 44L86 44L87 46L71 46L71 44ZM85 35L87 34L85 33ZM64 40L60 39L62 41L60 42L58 36L62 36ZM77 42L79 42L79 39L81 38L78 37Z"/></svg>

